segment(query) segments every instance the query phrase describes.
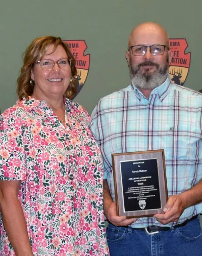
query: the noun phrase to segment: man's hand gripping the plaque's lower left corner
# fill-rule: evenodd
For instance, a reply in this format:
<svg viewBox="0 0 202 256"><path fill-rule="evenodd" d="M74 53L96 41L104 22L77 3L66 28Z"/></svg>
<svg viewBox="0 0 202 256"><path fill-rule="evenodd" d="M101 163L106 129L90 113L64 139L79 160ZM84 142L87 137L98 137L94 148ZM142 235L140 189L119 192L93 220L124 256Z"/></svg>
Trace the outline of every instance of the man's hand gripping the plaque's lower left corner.
<svg viewBox="0 0 202 256"><path fill-rule="evenodd" d="M137 219L126 219L125 216L117 216L116 203L112 202L105 210L105 215L109 222L115 226L128 226L135 222Z"/></svg>

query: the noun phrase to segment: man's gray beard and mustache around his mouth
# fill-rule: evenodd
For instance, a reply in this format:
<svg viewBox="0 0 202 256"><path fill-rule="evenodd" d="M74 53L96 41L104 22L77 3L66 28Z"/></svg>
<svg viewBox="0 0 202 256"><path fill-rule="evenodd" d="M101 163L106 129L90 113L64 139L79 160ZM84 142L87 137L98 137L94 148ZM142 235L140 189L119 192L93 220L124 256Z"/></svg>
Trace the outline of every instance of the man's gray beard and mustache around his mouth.
<svg viewBox="0 0 202 256"><path fill-rule="evenodd" d="M149 71L142 73L140 67L147 65L156 66L157 70L154 73L150 73ZM130 59L128 66L131 84L139 89L152 91L165 82L168 76L169 61L167 59L166 65L163 68L161 68L159 64L151 61L144 61L138 64L136 67L133 67Z"/></svg>

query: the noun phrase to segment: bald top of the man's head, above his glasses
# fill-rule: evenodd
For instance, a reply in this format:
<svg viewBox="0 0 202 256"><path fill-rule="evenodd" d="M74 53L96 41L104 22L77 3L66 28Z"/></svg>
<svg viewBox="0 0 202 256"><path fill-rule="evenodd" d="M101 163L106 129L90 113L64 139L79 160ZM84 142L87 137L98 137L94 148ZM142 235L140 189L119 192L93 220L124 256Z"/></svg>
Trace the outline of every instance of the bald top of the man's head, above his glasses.
<svg viewBox="0 0 202 256"><path fill-rule="evenodd" d="M130 33L128 49L135 45L165 45L169 48L168 35L164 28L154 22L136 26Z"/></svg>

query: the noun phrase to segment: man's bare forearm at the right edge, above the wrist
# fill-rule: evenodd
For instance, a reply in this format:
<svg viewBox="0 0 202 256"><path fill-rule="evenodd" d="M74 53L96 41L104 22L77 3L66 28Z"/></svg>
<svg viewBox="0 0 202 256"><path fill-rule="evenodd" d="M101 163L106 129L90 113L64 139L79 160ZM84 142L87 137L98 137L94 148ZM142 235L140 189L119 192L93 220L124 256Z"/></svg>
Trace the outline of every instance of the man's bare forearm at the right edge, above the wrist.
<svg viewBox="0 0 202 256"><path fill-rule="evenodd" d="M181 193L180 195L183 198L185 209L202 202L202 180L191 189Z"/></svg>

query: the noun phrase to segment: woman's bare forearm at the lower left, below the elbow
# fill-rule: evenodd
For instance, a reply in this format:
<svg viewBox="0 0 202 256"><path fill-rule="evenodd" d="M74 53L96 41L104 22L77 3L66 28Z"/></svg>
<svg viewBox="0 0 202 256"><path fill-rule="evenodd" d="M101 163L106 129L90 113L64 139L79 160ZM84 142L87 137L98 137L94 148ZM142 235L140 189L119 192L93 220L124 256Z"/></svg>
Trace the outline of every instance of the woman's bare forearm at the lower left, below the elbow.
<svg viewBox="0 0 202 256"><path fill-rule="evenodd" d="M0 208L5 230L16 255L32 256L26 221L18 198L1 198Z"/></svg>

